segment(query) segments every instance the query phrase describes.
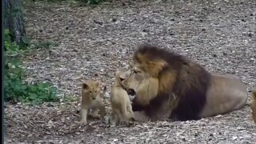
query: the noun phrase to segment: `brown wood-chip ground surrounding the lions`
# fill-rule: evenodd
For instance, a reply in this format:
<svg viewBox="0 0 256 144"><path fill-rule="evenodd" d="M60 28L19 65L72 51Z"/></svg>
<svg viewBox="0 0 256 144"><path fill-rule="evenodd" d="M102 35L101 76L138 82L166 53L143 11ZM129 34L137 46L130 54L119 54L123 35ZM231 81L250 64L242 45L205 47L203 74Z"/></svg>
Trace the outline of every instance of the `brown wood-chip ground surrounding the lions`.
<svg viewBox="0 0 256 144"><path fill-rule="evenodd" d="M219 74L236 74L256 89L256 1L139 2L136 6L26 6L26 31L35 41L58 44L27 54L28 82L52 82L74 102L5 108L6 143L255 143L249 106L188 122L78 126L82 79L96 78L110 91L114 72L125 70L144 42L174 50ZM106 105L109 94L106 94ZM248 103L251 101L249 96ZM109 108L109 106L107 106Z"/></svg>

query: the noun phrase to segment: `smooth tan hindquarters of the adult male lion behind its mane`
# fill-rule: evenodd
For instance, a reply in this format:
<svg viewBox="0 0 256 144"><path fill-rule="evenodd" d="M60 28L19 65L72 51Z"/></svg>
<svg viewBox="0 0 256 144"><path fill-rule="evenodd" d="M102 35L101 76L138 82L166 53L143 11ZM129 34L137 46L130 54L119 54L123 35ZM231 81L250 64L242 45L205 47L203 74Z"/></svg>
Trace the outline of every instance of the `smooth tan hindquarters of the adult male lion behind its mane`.
<svg viewBox="0 0 256 144"><path fill-rule="evenodd" d="M246 104L246 85L241 78L233 74L211 74L209 90L206 94L206 105L200 116L210 117L239 110Z"/></svg>

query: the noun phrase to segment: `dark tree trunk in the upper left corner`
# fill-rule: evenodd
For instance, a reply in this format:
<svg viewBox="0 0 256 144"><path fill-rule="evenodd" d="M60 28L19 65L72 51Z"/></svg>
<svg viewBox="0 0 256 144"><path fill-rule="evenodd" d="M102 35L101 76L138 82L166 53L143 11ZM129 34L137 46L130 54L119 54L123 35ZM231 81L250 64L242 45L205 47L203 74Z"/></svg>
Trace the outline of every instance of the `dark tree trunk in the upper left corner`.
<svg viewBox="0 0 256 144"><path fill-rule="evenodd" d="M26 31L22 13L22 0L4 0L4 29L10 30L12 42L24 46L24 36Z"/></svg>

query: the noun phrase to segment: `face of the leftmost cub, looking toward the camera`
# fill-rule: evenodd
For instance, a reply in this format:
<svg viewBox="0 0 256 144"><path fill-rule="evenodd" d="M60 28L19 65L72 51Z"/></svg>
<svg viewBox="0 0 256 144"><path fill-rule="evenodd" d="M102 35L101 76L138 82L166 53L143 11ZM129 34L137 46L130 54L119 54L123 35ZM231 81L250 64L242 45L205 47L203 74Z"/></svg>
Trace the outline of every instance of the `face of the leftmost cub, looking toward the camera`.
<svg viewBox="0 0 256 144"><path fill-rule="evenodd" d="M82 83L82 97L94 100L96 99L99 93L100 86L98 81L90 80Z"/></svg>

